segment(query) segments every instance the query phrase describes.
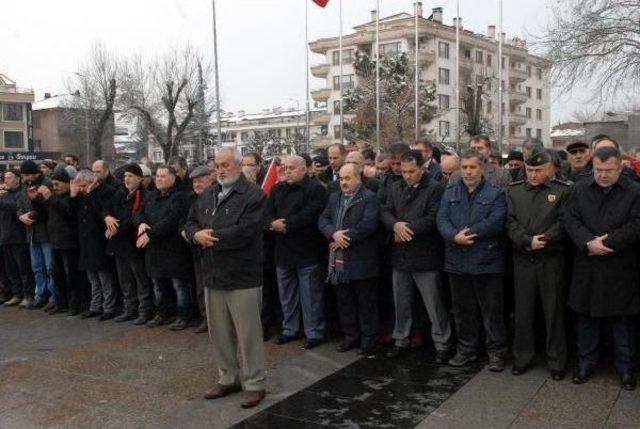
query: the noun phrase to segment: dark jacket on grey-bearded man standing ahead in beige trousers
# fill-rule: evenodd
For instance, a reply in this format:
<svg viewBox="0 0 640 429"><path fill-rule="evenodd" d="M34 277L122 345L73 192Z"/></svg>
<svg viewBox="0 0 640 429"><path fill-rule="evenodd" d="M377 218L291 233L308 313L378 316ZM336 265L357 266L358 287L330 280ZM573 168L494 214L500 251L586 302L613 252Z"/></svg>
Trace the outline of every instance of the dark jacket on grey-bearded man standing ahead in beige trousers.
<svg viewBox="0 0 640 429"><path fill-rule="evenodd" d="M213 229L219 239L199 252L204 285L217 290L260 287L266 196L244 176L226 195L220 196L221 191L220 184L207 188L192 206L184 227L194 245L195 233L203 229Z"/></svg>

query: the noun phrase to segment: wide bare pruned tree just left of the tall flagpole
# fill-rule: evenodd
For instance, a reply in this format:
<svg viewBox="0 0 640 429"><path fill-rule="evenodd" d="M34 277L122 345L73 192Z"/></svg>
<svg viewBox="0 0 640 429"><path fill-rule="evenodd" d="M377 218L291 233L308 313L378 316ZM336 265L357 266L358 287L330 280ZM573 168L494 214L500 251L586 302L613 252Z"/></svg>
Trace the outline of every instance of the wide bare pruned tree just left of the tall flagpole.
<svg viewBox="0 0 640 429"><path fill-rule="evenodd" d="M141 135L154 136L165 162L178 155L181 144L197 143L194 123L206 121L204 115L212 111L203 95L203 76L210 71L206 64L190 46L171 49L150 62L136 56L126 64L122 106L127 115L139 120ZM207 105L199 109L202 103Z"/></svg>

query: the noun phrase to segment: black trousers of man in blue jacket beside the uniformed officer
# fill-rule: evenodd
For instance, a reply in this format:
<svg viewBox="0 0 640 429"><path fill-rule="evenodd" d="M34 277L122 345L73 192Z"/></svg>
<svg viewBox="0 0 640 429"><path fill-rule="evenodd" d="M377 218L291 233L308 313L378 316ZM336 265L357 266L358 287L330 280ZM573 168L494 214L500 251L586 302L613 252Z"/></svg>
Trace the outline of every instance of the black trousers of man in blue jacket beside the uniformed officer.
<svg viewBox="0 0 640 429"><path fill-rule="evenodd" d="M507 352L501 274L450 274L449 286L458 336L458 353L472 357L478 352L480 326L484 326L487 353L504 357Z"/></svg>

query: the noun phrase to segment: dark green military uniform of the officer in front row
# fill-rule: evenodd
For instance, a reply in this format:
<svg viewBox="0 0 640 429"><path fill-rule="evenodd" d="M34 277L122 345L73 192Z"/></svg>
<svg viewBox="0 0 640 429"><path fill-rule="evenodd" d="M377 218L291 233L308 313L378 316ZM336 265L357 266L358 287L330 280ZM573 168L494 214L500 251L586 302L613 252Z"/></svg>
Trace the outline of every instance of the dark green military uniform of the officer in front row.
<svg viewBox="0 0 640 429"><path fill-rule="evenodd" d="M542 157L538 162L544 159ZM532 162L535 163L535 160ZM538 165L542 164L544 162ZM569 185L557 179L548 179L540 186L519 181L507 189L507 232L513 245L515 281L514 365L519 368L528 367L535 355L534 318L538 296L547 331L549 367L552 371L564 371L567 363L564 328L565 233L561 218L569 191ZM544 234L546 245L543 249L532 250L533 236L540 234Z"/></svg>

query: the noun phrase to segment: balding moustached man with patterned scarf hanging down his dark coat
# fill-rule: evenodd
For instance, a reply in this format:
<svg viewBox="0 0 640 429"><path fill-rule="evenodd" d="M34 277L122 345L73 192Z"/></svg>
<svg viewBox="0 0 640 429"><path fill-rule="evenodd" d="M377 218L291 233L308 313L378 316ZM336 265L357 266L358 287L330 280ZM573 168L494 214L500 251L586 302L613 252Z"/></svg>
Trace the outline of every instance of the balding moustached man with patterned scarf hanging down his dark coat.
<svg viewBox="0 0 640 429"><path fill-rule="evenodd" d="M370 354L378 336L378 229L380 206L376 195L362 186L355 164L340 169L340 192L318 219L329 240L328 283L336 287L338 318L345 333L339 352L360 347Z"/></svg>

